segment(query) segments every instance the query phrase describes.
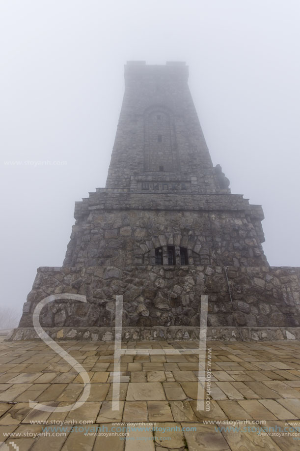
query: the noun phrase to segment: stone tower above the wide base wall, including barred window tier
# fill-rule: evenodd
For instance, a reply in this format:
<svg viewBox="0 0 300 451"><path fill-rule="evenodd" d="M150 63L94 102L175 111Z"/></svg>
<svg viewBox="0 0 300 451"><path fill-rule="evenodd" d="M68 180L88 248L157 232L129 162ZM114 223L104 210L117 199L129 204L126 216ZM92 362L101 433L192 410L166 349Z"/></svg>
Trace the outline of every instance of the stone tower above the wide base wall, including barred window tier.
<svg viewBox="0 0 300 451"><path fill-rule="evenodd" d="M213 167L185 63L125 66L106 188L76 204L64 266L265 266L261 207Z"/></svg>

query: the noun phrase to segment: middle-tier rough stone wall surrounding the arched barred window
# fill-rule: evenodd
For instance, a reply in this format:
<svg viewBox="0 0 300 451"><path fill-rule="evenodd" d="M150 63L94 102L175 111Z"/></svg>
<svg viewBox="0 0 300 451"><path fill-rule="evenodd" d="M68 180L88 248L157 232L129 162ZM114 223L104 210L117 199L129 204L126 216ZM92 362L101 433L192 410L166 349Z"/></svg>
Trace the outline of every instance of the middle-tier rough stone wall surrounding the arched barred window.
<svg viewBox="0 0 300 451"><path fill-rule="evenodd" d="M64 266L141 265L164 245L190 249L202 265L266 266L251 221L243 210L90 210L73 226Z"/></svg>

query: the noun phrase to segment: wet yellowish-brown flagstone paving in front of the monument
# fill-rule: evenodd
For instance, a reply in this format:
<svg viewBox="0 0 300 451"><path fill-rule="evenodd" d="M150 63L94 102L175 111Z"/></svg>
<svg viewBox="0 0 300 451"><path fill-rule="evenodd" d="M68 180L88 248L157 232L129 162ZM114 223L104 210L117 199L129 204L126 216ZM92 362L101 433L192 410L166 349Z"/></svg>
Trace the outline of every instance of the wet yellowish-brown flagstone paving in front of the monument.
<svg viewBox="0 0 300 451"><path fill-rule="evenodd" d="M44 342L3 339L0 451L300 448L300 342L211 341L200 362L197 342L122 343L119 366L113 342L60 342L87 371L90 394L73 411L48 412L29 400L55 409L81 399L76 366ZM204 376L210 386L199 391L198 410Z"/></svg>

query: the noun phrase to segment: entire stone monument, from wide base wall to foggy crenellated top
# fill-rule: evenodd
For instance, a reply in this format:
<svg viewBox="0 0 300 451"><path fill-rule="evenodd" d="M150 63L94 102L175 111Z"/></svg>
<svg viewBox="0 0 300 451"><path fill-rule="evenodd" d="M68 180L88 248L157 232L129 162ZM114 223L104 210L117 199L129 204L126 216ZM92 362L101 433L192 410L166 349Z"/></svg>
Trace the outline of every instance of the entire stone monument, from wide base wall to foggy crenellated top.
<svg viewBox="0 0 300 451"><path fill-rule="evenodd" d="M106 187L76 203L63 266L38 269L13 338L34 336L55 293L87 303L42 310L53 338L111 339L116 295L126 339L195 338L201 294L212 338L299 336L300 271L269 267L263 218L213 166L186 64L130 61Z"/></svg>

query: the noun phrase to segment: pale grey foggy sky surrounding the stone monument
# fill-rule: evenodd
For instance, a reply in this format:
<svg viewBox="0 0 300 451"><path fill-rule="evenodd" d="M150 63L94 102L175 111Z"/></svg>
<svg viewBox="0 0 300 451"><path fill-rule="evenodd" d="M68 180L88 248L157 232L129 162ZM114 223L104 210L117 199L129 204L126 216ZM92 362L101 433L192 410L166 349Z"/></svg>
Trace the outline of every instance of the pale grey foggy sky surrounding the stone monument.
<svg viewBox="0 0 300 451"><path fill-rule="evenodd" d="M74 202L105 186L126 60L187 62L213 163L263 206L269 263L299 266L299 23L298 0L2 0L1 303L61 266Z"/></svg>

